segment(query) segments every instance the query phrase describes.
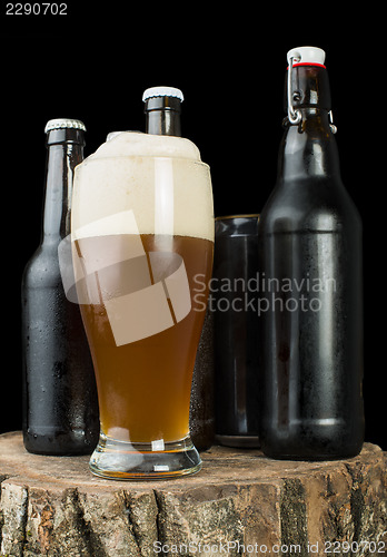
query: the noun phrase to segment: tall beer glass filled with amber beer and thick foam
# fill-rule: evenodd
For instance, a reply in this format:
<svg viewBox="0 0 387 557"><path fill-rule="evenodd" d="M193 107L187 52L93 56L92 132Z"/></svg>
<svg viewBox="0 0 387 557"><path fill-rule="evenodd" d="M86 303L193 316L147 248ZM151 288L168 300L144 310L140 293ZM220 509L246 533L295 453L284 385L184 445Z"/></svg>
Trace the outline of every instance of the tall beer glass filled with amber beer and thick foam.
<svg viewBox="0 0 387 557"><path fill-rule="evenodd" d="M196 472L189 405L212 268L209 167L188 139L120 133L77 167L72 203L100 409L90 469L116 479Z"/></svg>

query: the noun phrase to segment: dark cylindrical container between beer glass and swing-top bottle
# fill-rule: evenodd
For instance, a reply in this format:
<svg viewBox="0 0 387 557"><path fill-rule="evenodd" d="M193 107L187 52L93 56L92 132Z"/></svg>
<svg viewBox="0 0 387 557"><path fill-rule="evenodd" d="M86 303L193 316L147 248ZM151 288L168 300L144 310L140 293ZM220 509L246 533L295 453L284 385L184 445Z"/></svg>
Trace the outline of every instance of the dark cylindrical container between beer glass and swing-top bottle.
<svg viewBox="0 0 387 557"><path fill-rule="evenodd" d="M215 219L216 439L228 447L259 447L258 221L258 214Z"/></svg>

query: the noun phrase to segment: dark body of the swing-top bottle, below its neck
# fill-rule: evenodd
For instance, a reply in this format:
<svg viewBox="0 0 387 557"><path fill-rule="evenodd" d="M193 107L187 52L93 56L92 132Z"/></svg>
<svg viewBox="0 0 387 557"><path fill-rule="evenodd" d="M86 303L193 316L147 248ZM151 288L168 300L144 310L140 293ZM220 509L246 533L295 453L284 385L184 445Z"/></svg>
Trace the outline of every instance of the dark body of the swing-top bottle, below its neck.
<svg viewBox="0 0 387 557"><path fill-rule="evenodd" d="M297 186L279 188L259 228L260 442L274 458L353 457L364 438L361 224L344 188L316 183L316 211Z"/></svg>

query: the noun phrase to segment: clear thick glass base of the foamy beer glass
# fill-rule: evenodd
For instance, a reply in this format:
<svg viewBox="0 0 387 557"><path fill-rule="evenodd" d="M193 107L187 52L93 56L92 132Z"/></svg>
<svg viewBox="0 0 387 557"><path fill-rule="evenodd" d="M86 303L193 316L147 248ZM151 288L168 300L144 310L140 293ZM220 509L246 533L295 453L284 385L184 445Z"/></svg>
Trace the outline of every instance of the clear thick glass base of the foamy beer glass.
<svg viewBox="0 0 387 557"><path fill-rule="evenodd" d="M108 479L163 480L198 472L201 459L189 436L170 443L130 443L101 433L89 467Z"/></svg>

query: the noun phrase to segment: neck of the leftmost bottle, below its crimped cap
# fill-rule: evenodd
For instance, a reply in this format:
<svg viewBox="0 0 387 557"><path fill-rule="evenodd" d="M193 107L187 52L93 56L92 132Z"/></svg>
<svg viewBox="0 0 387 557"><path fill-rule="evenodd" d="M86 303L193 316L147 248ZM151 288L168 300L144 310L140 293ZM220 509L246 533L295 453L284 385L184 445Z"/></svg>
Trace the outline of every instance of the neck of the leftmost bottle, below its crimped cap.
<svg viewBox="0 0 387 557"><path fill-rule="evenodd" d="M83 159L83 146L78 129L53 129L47 136L43 244L70 234L73 170Z"/></svg>

